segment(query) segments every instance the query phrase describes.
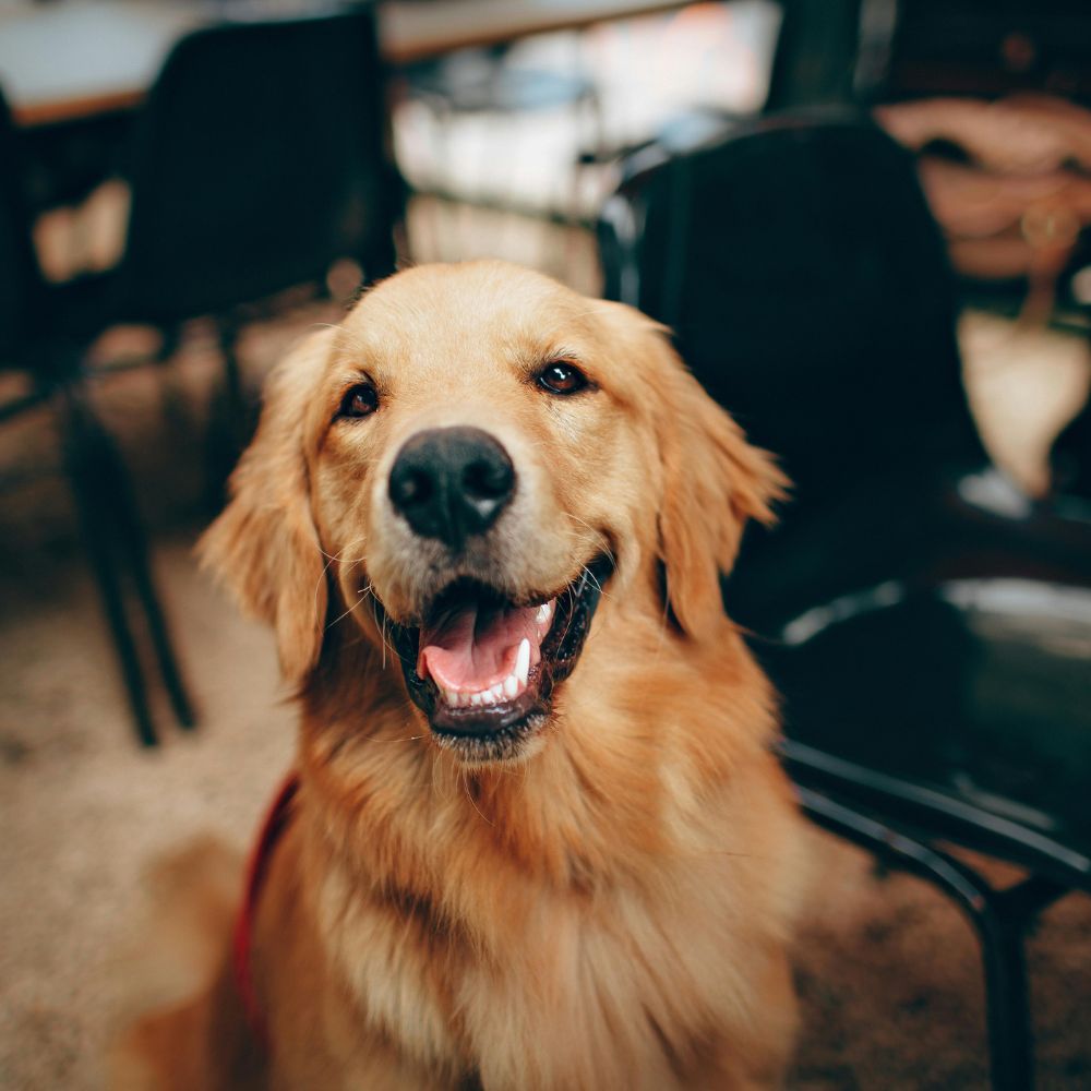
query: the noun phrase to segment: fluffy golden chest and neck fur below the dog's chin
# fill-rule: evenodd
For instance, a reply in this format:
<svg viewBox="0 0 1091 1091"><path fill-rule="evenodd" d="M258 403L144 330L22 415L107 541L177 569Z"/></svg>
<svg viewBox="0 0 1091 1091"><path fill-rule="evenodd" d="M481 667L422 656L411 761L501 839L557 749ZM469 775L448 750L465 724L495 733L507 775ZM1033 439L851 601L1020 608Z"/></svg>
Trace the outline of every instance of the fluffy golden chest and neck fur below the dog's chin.
<svg viewBox="0 0 1091 1091"><path fill-rule="evenodd" d="M691 682L645 691L624 733L600 685L524 769L481 778L406 745L400 714L337 751L333 718L311 721L313 799L339 800L302 859L351 997L341 1067L364 1071L381 1043L416 1074L405 1087L661 1091L750 1086L729 1048L782 1054L792 819L762 708L732 696L708 722L758 728L703 730L671 715Z"/></svg>

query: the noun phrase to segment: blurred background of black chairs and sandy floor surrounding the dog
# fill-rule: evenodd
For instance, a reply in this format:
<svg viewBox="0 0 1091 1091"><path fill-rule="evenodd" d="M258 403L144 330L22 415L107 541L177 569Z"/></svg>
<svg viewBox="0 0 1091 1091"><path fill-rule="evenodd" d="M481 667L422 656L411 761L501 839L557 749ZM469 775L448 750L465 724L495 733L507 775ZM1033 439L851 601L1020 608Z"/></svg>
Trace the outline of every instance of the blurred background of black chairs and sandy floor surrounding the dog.
<svg viewBox="0 0 1091 1091"><path fill-rule="evenodd" d="M0 1087L103 1086L291 759L196 572L264 375L506 257L795 481L724 587L823 882L796 1088L1091 1084L1091 10L0 0Z"/></svg>

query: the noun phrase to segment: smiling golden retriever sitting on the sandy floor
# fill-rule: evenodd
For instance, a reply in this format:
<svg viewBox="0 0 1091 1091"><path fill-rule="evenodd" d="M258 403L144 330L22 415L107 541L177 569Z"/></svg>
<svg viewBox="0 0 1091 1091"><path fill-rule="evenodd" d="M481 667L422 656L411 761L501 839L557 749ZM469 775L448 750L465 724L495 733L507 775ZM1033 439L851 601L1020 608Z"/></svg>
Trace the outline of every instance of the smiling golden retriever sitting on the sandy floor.
<svg viewBox="0 0 1091 1091"><path fill-rule="evenodd" d="M312 333L200 546L275 632L296 780L149 1082L778 1086L805 867L720 575L784 485L667 331L526 269Z"/></svg>

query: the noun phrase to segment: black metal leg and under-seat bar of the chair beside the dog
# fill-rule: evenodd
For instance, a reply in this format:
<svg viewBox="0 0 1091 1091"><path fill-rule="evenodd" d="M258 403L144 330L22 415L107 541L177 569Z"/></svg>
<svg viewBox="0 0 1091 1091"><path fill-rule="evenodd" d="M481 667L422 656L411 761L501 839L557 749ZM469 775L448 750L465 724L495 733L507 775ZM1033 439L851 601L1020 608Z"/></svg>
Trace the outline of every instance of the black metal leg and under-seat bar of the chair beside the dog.
<svg viewBox="0 0 1091 1091"><path fill-rule="evenodd" d="M798 791L804 813L817 825L927 879L962 909L981 943L993 1087L996 1091L1030 1091L1034 1086L1034 1048L1023 938L1034 915L1068 888L1032 876L1009 890L994 890L945 853L819 792Z"/></svg>

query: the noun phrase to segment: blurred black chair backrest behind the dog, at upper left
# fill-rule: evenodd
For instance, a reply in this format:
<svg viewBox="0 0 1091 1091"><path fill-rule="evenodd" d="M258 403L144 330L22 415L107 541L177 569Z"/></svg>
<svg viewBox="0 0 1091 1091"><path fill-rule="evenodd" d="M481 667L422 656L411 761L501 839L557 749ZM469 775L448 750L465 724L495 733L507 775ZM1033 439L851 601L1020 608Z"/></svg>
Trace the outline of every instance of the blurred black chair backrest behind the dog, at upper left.
<svg viewBox="0 0 1091 1091"><path fill-rule="evenodd" d="M339 256L391 272L400 188L384 118L370 7L182 39L134 140L125 309L215 311L321 279Z"/></svg>

